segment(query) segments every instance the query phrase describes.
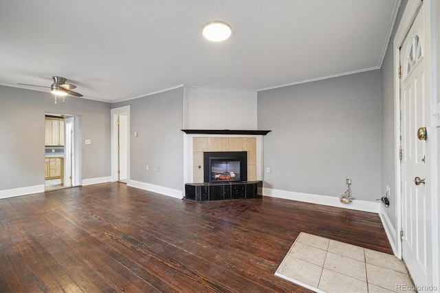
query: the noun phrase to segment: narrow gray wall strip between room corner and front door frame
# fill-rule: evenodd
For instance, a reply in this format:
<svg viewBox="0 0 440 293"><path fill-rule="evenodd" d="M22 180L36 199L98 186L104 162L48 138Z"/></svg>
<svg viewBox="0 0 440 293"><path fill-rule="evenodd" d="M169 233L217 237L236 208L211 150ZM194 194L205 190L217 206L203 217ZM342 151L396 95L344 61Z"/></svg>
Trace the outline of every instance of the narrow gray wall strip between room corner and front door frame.
<svg viewBox="0 0 440 293"><path fill-rule="evenodd" d="M394 105L394 77L395 70L393 64L393 40L397 28L399 27L401 15L404 12L407 0L401 2L399 13L397 14L393 34L386 50L384 62L382 63L382 195L386 194L386 186L390 186L390 207L386 208L388 219L391 220L393 227L397 228L397 206L396 186L395 186L395 105Z"/></svg>

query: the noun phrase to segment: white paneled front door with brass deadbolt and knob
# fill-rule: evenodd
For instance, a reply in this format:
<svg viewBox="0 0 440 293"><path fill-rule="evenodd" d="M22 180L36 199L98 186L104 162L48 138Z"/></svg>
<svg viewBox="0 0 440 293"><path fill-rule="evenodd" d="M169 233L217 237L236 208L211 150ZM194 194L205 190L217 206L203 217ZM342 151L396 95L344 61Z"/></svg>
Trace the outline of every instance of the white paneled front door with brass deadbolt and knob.
<svg viewBox="0 0 440 293"><path fill-rule="evenodd" d="M401 46L401 148L402 148L402 259L415 281L426 285L432 261L430 245L430 193L426 184L426 140L420 140L417 131L426 127L426 56L423 56L423 9ZM418 180L417 177L420 179Z"/></svg>

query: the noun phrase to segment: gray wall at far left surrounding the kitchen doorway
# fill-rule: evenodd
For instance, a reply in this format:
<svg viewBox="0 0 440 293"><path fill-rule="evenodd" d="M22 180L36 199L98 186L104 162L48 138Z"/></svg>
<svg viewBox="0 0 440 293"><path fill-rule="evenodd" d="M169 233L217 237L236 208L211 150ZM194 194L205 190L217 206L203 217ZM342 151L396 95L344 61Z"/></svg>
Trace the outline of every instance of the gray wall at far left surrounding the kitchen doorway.
<svg viewBox="0 0 440 293"><path fill-rule="evenodd" d="M81 116L83 180L109 176L110 104L0 86L0 190L45 184L45 113Z"/></svg>

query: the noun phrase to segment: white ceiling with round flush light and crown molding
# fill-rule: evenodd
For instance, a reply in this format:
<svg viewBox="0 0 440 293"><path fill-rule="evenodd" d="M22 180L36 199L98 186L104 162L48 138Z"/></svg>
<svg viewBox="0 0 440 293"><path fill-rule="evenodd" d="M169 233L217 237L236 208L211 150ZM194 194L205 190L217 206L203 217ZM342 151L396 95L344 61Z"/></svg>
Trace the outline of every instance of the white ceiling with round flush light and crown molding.
<svg viewBox="0 0 440 293"><path fill-rule="evenodd" d="M1 0L0 84L63 76L84 98L116 102L183 84L261 90L377 69L398 3ZM231 25L230 39L203 39L213 20Z"/></svg>

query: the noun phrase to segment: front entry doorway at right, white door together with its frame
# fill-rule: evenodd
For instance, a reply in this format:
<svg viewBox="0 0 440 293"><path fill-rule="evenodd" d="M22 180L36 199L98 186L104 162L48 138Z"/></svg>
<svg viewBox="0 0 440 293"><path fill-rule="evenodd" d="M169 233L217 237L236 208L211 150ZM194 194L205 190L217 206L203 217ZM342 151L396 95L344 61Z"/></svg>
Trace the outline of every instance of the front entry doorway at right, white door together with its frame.
<svg viewBox="0 0 440 293"><path fill-rule="evenodd" d="M399 48L395 64L401 69L400 76L395 76L397 228L401 258L417 287L438 284L439 264L435 232L439 218L433 212L438 162L432 149L431 86L435 82L431 79L430 5L421 1L407 5L395 37L395 49Z"/></svg>

